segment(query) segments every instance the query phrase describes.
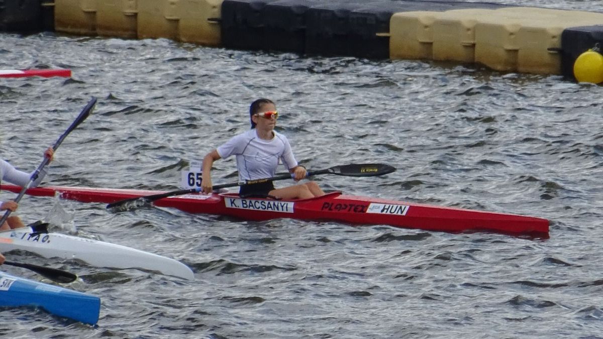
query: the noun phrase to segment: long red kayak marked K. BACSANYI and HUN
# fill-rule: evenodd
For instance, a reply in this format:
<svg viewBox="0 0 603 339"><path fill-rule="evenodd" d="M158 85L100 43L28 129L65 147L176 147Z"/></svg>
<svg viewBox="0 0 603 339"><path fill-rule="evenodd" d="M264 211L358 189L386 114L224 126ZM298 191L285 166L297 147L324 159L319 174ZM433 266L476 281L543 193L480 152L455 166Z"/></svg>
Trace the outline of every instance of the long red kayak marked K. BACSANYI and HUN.
<svg viewBox="0 0 603 339"><path fill-rule="evenodd" d="M0 185L0 189L20 192L21 187ZM115 203L128 198L161 194L137 189L47 186L31 188L27 194L54 196L84 203ZM390 225L443 232L487 231L508 235L548 238L549 221L523 215L472 211L332 192L303 200L240 198L238 194L186 194L154 201L156 206L177 208L189 213L228 215L243 220L294 218L334 220L351 224Z"/></svg>

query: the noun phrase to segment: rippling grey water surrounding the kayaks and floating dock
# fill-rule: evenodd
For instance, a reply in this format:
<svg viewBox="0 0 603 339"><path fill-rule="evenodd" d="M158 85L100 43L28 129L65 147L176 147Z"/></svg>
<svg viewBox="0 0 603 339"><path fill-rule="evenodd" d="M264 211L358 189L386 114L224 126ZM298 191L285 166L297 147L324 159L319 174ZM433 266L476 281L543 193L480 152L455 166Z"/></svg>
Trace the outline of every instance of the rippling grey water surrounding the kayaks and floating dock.
<svg viewBox="0 0 603 339"><path fill-rule="evenodd" d="M598 10L587 1L514 3ZM95 114L57 151L48 184L177 189L180 170L246 130L248 104L268 97L306 167L398 169L371 179L317 177L326 189L551 220L551 238L533 241L171 209L112 214L103 204L26 196L19 210L26 221L62 218L58 231L75 227L178 259L196 280L9 253L79 274L83 282L71 288L101 297L101 319L93 328L2 309L0 336L603 337L602 87L472 66L306 59L162 39L0 40L4 69L74 72L70 80L0 82L0 150L18 168L36 168L90 96L99 98ZM215 165L216 184L236 180L233 160Z"/></svg>

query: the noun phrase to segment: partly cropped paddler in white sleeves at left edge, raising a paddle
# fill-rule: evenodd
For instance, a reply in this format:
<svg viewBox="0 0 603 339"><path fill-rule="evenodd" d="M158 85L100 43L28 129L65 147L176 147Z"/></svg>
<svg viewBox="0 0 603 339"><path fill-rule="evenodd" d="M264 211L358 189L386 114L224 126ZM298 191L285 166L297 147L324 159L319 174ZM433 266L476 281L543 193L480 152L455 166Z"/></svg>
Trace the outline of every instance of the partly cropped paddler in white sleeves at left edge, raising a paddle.
<svg viewBox="0 0 603 339"><path fill-rule="evenodd" d="M49 162L52 161L52 156L54 156L54 150L52 149L52 147L48 147L48 149L44 151L44 156L49 159ZM0 160L0 180L2 181L7 181L13 183L14 185L25 186L30 181L32 175L33 173L28 174L16 170L10 163L5 162L4 160ZM37 185L39 185L45 175L46 171L44 168L42 168L36 180L31 183L31 187L36 187ZM19 207L19 204L17 204L15 201L0 201L0 211L10 210L11 212L14 212L16 211L17 207ZM0 213L1 217L5 212ZM4 224L0 226L0 231L16 229L19 227L25 227L25 224L23 223L23 221L21 221L21 218L17 217L16 215L10 215L10 217L7 218Z"/></svg>

